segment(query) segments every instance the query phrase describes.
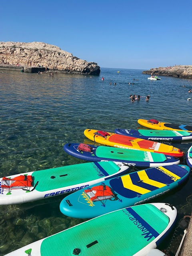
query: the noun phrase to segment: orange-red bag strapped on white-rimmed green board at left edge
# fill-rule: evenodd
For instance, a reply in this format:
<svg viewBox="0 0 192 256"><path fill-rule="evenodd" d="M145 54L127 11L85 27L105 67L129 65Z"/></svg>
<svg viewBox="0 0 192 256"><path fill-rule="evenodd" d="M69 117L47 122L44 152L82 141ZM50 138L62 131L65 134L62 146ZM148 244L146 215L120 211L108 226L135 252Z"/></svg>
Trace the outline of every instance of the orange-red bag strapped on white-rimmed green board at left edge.
<svg viewBox="0 0 192 256"><path fill-rule="evenodd" d="M15 178L2 178L1 188L4 189L19 189L19 188L27 188L32 187L32 176L31 175L20 175Z"/></svg>

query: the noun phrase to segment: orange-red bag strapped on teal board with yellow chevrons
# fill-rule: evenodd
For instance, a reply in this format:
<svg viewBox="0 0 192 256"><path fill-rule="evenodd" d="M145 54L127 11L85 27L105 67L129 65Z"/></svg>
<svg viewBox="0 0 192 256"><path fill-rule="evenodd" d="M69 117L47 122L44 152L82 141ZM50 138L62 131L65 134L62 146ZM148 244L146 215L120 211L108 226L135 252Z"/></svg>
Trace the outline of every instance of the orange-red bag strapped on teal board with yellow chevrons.
<svg viewBox="0 0 192 256"><path fill-rule="evenodd" d="M102 201L110 198L115 198L111 188L105 184L92 187L90 189L84 190L86 194L90 197L92 202Z"/></svg>

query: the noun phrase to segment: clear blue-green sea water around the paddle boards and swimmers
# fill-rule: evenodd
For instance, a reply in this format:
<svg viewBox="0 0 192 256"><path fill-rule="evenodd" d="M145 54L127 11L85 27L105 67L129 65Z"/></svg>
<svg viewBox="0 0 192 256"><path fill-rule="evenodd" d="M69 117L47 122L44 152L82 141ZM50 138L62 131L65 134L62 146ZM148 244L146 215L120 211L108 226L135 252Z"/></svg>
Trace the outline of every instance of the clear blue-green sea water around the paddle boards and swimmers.
<svg viewBox="0 0 192 256"><path fill-rule="evenodd" d="M162 76L160 81L150 81L142 70L117 71L101 68L99 76L48 77L0 70L0 175L84 162L68 156L63 146L68 142L92 144L83 133L87 128L108 132L141 128L139 118L192 125L192 100L187 101L192 80ZM143 97L130 102L130 94ZM148 94L150 100L146 102ZM174 145L186 152L192 142ZM191 214L191 183L190 176L178 190L156 201L174 204L178 220ZM60 213L63 198L0 206L0 256L84 222Z"/></svg>

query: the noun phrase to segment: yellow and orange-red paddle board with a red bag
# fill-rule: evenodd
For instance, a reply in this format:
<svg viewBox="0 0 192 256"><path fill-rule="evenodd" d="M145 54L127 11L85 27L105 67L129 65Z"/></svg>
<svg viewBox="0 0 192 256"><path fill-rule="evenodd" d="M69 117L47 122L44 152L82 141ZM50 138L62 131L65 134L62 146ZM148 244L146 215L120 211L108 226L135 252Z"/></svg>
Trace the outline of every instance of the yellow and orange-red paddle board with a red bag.
<svg viewBox="0 0 192 256"><path fill-rule="evenodd" d="M184 155L180 149L170 145L150 140L143 140L140 138L134 138L131 136L115 134L112 132L86 129L84 130L84 134L90 140L116 148L137 149L154 153L163 153L169 156L176 156L178 158Z"/></svg>

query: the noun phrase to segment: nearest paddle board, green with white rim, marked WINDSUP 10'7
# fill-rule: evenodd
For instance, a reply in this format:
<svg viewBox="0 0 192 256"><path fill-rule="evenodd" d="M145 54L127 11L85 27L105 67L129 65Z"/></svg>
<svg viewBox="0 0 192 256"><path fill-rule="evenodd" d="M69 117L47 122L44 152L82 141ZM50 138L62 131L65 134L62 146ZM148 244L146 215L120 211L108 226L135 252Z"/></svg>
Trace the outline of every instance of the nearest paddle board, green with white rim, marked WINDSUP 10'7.
<svg viewBox="0 0 192 256"><path fill-rule="evenodd" d="M6 256L146 256L170 233L176 217L177 210L170 204L132 206L88 220Z"/></svg>

